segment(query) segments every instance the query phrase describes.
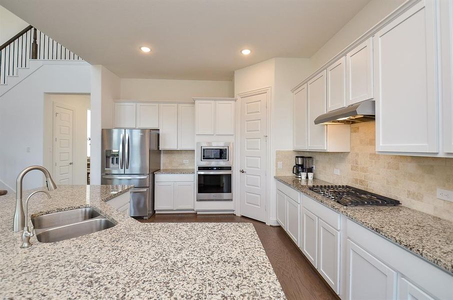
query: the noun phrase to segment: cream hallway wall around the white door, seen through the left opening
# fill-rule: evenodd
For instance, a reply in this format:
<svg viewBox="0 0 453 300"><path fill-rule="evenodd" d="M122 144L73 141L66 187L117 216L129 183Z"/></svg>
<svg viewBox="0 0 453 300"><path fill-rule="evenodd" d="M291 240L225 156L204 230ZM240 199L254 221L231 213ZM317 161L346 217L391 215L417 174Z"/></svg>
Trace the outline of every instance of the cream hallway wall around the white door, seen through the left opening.
<svg viewBox="0 0 453 300"><path fill-rule="evenodd" d="M89 95L44 94L44 145L43 166L53 169L53 103L74 108L72 142L72 184L86 184L86 110L89 109ZM52 172L52 175L54 172Z"/></svg>

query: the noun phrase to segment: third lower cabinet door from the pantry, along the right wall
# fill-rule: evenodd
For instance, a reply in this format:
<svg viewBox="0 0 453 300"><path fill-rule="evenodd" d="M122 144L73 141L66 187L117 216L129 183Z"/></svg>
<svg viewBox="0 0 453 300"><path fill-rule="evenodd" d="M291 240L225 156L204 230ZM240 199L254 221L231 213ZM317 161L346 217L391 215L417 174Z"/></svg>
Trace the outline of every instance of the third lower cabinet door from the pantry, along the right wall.
<svg viewBox="0 0 453 300"><path fill-rule="evenodd" d="M317 216L302 207L300 249L317 268Z"/></svg>

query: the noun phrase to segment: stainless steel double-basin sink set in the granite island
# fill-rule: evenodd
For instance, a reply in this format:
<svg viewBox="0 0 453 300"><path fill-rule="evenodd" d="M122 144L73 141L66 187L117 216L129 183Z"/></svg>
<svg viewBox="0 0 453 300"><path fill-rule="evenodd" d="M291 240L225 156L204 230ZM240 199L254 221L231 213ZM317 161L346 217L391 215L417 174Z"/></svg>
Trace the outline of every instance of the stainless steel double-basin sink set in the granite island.
<svg viewBox="0 0 453 300"><path fill-rule="evenodd" d="M104 215L91 207L39 215L31 218L31 223L40 242L54 242L69 239L115 225Z"/></svg>

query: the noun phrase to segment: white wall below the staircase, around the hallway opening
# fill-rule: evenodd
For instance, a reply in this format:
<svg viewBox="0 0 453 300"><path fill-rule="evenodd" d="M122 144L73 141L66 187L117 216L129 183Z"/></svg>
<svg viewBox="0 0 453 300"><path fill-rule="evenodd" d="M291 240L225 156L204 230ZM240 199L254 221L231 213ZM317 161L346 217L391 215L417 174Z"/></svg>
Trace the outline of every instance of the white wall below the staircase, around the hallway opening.
<svg viewBox="0 0 453 300"><path fill-rule="evenodd" d="M15 190L17 174L43 163L45 93L90 93L90 65L85 61L35 61L42 67L0 97L0 185ZM26 147L30 151L26 152ZM24 189L42 186L40 172L24 178Z"/></svg>

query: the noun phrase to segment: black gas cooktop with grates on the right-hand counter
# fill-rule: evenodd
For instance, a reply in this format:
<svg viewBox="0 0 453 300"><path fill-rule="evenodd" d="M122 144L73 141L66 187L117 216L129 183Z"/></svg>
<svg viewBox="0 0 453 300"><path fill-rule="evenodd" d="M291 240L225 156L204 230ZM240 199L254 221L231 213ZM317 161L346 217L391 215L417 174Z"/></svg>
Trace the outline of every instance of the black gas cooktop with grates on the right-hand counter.
<svg viewBox="0 0 453 300"><path fill-rule="evenodd" d="M309 189L343 206L394 206L398 200L349 185L313 185Z"/></svg>

